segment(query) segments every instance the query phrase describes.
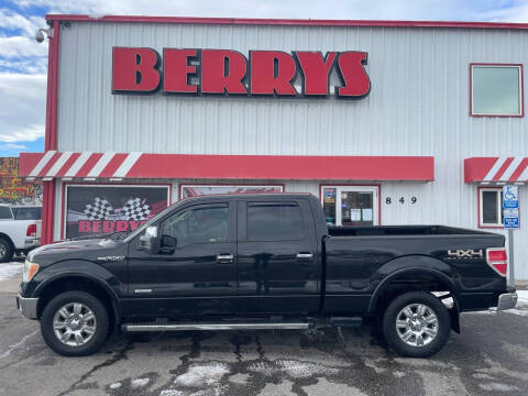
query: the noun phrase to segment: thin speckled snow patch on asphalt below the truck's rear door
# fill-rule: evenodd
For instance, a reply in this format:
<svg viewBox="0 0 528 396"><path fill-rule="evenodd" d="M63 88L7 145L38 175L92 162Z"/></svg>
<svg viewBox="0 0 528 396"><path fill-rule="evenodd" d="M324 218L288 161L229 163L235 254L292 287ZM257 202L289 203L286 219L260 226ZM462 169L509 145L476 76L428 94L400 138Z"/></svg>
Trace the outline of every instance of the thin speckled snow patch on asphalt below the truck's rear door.
<svg viewBox="0 0 528 396"><path fill-rule="evenodd" d="M322 364L306 363L292 360L277 360L273 363L257 362L248 367L249 371L272 376L275 373L286 372L293 378L308 378L315 375L337 374L339 370Z"/></svg>

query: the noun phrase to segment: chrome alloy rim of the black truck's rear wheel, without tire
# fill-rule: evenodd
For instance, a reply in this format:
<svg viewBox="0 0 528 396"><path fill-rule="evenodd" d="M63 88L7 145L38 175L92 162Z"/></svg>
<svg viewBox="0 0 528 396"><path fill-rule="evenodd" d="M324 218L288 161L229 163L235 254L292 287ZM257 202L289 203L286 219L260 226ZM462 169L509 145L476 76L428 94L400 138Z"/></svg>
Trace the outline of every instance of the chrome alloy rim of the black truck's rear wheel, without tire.
<svg viewBox="0 0 528 396"><path fill-rule="evenodd" d="M424 304L410 304L396 316L396 333L407 345L425 346L437 338L437 315Z"/></svg>

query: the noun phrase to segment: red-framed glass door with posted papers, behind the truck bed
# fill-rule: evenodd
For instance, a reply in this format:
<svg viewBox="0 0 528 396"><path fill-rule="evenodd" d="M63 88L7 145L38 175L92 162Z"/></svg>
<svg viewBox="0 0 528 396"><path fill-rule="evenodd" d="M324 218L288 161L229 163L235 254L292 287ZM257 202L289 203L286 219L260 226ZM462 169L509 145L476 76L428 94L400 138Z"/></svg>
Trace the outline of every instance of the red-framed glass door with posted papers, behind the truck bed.
<svg viewBox="0 0 528 396"><path fill-rule="evenodd" d="M321 193L328 226L378 224L378 187L322 186Z"/></svg>

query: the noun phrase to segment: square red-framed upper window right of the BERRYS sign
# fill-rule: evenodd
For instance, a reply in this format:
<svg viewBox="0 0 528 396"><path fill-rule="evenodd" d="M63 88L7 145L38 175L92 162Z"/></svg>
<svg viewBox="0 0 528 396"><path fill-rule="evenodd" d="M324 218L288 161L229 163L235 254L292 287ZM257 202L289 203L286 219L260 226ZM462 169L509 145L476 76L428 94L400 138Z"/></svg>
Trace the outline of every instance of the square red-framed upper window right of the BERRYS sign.
<svg viewBox="0 0 528 396"><path fill-rule="evenodd" d="M471 64L471 116L522 117L522 65Z"/></svg>

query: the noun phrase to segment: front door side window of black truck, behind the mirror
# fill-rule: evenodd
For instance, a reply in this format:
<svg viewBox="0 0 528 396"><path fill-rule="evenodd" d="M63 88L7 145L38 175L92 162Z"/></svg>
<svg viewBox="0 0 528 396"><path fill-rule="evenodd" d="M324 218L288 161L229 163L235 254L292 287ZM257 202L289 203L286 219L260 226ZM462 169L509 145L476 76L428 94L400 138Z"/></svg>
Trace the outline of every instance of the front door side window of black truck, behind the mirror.
<svg viewBox="0 0 528 396"><path fill-rule="evenodd" d="M177 248L228 240L228 205L183 210L162 223L162 235L176 238Z"/></svg>

